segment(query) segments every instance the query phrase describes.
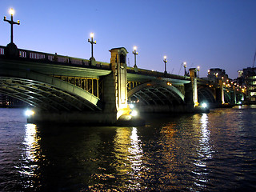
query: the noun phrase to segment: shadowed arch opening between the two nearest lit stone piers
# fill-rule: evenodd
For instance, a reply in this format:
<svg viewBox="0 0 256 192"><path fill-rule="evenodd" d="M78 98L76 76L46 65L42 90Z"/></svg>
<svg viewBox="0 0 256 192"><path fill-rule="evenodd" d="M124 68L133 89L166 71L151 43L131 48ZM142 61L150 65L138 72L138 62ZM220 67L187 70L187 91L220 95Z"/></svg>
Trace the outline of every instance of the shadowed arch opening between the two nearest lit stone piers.
<svg viewBox="0 0 256 192"><path fill-rule="evenodd" d="M174 86L165 82L148 82L128 92L128 99L139 101L139 105L178 106L184 104L184 95Z"/></svg>

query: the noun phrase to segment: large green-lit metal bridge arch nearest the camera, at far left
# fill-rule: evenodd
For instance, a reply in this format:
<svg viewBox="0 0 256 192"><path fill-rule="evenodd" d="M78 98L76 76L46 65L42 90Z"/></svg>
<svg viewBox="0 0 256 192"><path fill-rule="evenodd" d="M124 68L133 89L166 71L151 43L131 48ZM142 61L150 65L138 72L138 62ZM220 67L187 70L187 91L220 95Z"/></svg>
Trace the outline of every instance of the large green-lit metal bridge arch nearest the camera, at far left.
<svg viewBox="0 0 256 192"><path fill-rule="evenodd" d="M102 110L99 98L58 78L30 70L0 70L0 93L48 111Z"/></svg>

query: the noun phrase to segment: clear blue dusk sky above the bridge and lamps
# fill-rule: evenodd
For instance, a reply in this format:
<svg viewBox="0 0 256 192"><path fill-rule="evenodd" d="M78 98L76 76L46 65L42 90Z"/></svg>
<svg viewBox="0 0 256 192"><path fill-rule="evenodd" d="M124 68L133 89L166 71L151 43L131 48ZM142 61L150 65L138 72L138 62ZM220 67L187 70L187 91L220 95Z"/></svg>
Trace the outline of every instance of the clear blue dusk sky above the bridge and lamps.
<svg viewBox="0 0 256 192"><path fill-rule="evenodd" d="M127 65L183 75L200 66L200 77L222 68L230 78L252 67L256 50L256 0L0 0L0 45L10 42L9 9L15 10L14 43L18 48L110 62L109 50L125 47ZM255 63L256 66L256 63Z"/></svg>

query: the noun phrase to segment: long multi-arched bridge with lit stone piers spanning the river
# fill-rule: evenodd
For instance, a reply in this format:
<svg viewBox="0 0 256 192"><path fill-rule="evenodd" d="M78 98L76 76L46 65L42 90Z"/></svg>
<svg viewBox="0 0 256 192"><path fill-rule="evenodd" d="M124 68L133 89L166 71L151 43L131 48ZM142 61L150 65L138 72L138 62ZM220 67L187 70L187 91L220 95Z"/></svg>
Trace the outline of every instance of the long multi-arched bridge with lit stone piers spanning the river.
<svg viewBox="0 0 256 192"><path fill-rule="evenodd" d="M190 77L134 69L126 66L125 48L110 52L110 63L90 63L0 46L0 93L34 106L34 121L110 124L129 114L129 102L142 112L193 112L202 102L214 107L241 98L221 80L198 79L195 69Z"/></svg>

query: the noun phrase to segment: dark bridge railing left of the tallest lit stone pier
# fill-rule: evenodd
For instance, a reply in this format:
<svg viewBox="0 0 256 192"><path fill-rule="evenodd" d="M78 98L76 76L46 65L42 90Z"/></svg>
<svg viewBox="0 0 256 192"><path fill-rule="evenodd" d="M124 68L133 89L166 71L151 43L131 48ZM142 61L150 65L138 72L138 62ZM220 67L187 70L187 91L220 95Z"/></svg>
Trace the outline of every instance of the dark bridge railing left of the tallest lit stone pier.
<svg viewBox="0 0 256 192"><path fill-rule="evenodd" d="M0 46L0 55L5 55L5 46ZM38 60L40 62L59 62L75 66L90 66L90 60L82 58L72 58L68 56L62 56L58 54L47 54L38 51L21 50L19 51L19 58ZM110 70L110 63L107 62L96 62L97 68Z"/></svg>

